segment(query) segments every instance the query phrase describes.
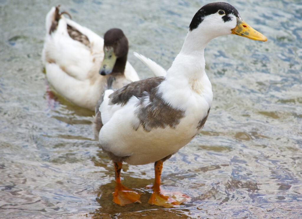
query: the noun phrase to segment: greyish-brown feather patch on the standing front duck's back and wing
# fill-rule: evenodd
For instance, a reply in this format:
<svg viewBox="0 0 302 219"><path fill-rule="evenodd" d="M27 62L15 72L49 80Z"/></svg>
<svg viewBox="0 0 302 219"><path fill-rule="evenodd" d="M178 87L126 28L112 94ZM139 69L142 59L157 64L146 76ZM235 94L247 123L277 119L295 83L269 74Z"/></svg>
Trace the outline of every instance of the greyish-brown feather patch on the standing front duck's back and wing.
<svg viewBox="0 0 302 219"><path fill-rule="evenodd" d="M173 108L162 99L162 94L158 93L158 86L164 80L164 77L154 77L132 82L109 95L111 99L109 104L123 106L135 96L140 99L135 114L146 132L166 126L175 129L180 119L185 116L185 111Z"/></svg>

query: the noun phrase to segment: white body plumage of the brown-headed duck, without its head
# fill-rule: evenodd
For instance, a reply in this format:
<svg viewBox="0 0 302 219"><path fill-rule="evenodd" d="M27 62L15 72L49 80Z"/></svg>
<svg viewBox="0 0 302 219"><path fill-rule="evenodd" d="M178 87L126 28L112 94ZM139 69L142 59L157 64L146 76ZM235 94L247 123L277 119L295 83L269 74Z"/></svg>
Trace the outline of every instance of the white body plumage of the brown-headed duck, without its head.
<svg viewBox="0 0 302 219"><path fill-rule="evenodd" d="M46 16L46 38L42 61L47 80L54 90L72 103L91 110L103 93L108 75L99 75L104 57L104 40L93 31L61 15L56 30L50 33L55 16L53 7ZM67 32L67 24L86 35L89 46L73 40ZM124 75L116 78L113 88L119 88L139 77L130 65L126 64Z"/></svg>

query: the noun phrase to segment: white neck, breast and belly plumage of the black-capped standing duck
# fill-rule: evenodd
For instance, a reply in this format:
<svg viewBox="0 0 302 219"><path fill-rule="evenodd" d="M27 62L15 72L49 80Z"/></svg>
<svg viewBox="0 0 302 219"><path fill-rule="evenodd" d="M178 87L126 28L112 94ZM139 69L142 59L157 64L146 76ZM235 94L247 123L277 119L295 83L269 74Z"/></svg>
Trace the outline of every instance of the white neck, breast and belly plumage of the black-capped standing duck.
<svg viewBox="0 0 302 219"><path fill-rule="evenodd" d="M194 40L197 36L200 41L203 33L198 30L188 33L181 52L157 90L162 102L184 111L179 124L175 128L166 125L164 129L146 131L137 117L140 98L133 96L124 106L112 105L108 96L113 90L107 90L99 108L104 124L99 142L105 151L119 157L129 156L124 160L129 164L146 164L174 154L199 133L202 128L199 122L208 115L213 93L204 71L204 48L208 41L198 45ZM143 104L150 102L146 100Z"/></svg>

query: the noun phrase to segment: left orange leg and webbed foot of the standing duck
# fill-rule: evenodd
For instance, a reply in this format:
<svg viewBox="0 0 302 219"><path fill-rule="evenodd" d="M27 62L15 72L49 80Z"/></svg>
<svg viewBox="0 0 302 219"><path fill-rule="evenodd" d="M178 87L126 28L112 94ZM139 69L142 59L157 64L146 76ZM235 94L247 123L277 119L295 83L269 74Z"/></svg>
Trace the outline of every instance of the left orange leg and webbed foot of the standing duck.
<svg viewBox="0 0 302 219"><path fill-rule="evenodd" d="M127 205L133 202L141 203L139 193L128 189L120 183L120 170L122 169L122 165L120 162L114 162L115 188L114 192L112 192L113 202L119 205Z"/></svg>

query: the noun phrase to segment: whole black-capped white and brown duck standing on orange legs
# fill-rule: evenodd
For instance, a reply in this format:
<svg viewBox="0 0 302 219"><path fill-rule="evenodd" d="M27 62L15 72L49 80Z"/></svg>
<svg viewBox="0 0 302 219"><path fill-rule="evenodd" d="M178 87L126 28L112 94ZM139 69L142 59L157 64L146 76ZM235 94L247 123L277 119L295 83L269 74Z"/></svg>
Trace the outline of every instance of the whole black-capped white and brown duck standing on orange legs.
<svg viewBox="0 0 302 219"><path fill-rule="evenodd" d="M266 41L224 2L204 5L194 15L181 51L165 77L148 78L118 90L106 90L96 108L95 134L114 161L116 186L113 201L139 202L140 194L120 182L122 162L155 162L155 183L150 204L173 207L187 200L163 195L159 188L162 163L191 141L202 129L213 93L205 73L207 43L228 34Z"/></svg>

